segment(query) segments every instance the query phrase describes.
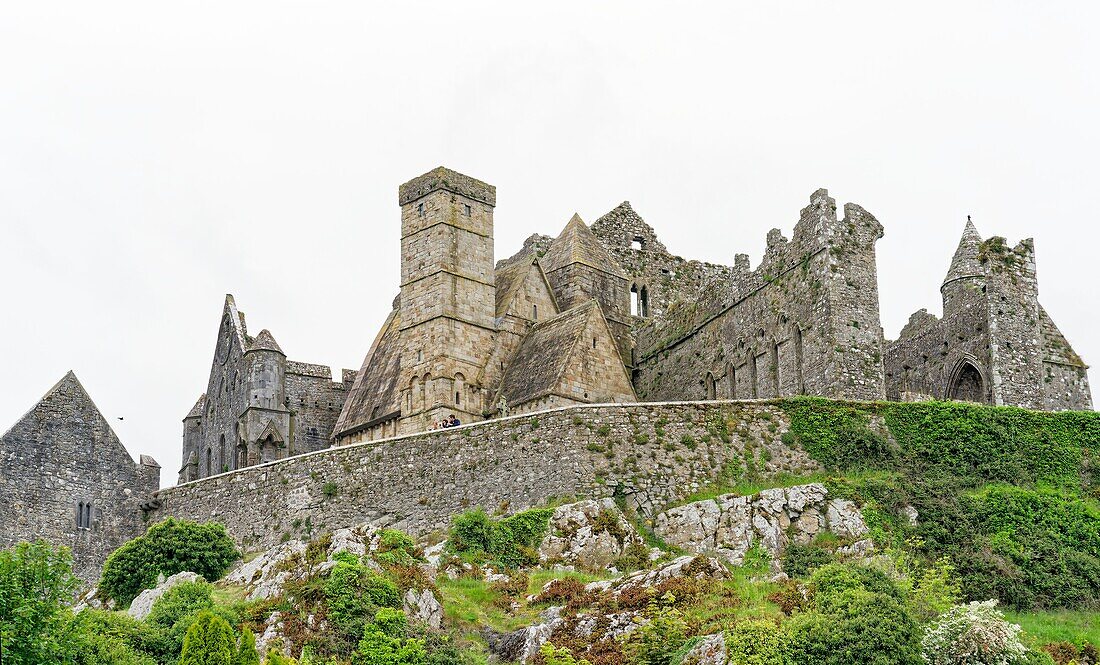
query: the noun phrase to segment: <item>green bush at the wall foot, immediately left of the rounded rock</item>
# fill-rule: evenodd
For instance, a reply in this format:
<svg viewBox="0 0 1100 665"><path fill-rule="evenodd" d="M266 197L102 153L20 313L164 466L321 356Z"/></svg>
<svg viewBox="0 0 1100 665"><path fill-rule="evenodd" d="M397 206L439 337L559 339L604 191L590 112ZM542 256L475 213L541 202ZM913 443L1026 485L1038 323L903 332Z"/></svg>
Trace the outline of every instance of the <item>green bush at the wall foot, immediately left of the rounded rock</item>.
<svg viewBox="0 0 1100 665"><path fill-rule="evenodd" d="M535 565L552 514L553 510L543 508L494 520L481 508L470 510L451 522L449 546L453 552L505 568Z"/></svg>

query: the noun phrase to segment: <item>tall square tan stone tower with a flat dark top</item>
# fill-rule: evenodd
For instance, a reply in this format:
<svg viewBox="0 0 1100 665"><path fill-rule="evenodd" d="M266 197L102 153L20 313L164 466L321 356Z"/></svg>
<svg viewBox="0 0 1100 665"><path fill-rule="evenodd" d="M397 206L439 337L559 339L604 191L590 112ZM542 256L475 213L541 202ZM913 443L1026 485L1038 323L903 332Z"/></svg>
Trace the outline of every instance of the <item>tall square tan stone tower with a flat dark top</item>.
<svg viewBox="0 0 1100 665"><path fill-rule="evenodd" d="M496 188L439 167L402 185L399 432L481 420L493 347Z"/></svg>

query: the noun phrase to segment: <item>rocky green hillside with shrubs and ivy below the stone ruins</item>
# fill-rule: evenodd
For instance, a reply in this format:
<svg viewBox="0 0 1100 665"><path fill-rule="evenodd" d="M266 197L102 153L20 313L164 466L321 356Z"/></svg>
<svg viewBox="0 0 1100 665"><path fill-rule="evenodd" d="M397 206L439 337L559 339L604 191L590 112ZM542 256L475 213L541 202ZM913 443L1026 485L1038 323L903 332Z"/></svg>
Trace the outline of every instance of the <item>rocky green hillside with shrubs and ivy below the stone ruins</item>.
<svg viewBox="0 0 1100 665"><path fill-rule="evenodd" d="M78 614L67 554L19 545L4 664L1100 663L1098 414L776 404L822 472L766 477L758 446L656 514L502 505L243 561L220 525L167 521Z"/></svg>

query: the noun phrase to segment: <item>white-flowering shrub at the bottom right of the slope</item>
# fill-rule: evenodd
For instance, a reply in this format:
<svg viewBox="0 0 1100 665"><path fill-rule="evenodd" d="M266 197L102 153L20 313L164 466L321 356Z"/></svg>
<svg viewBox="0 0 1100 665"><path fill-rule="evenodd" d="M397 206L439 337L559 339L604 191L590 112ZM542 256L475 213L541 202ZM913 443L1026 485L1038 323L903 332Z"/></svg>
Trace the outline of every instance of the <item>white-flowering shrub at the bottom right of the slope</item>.
<svg viewBox="0 0 1100 665"><path fill-rule="evenodd" d="M953 607L921 641L928 665L1013 665L1026 654L1020 627L1004 620L996 600Z"/></svg>

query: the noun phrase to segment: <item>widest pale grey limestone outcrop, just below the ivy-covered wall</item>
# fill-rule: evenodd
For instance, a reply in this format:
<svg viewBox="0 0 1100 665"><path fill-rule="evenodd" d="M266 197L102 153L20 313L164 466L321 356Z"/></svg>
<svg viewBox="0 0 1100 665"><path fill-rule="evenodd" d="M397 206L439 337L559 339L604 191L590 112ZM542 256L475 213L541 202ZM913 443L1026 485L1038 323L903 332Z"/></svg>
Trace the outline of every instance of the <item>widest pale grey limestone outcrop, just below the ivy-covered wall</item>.
<svg viewBox="0 0 1100 665"><path fill-rule="evenodd" d="M829 499L818 483L766 489L739 497L723 495L667 510L653 531L670 545L695 553L714 553L740 565L754 544L778 559L790 543L807 544L831 532L851 543L854 555L873 550L859 508L846 499Z"/></svg>

